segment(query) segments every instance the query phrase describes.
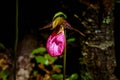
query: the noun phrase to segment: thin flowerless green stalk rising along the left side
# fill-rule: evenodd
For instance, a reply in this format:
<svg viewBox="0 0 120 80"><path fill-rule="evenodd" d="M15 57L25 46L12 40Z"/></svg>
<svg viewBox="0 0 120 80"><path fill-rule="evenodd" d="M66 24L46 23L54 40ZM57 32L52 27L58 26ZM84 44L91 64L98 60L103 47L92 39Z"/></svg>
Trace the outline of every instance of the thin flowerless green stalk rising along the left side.
<svg viewBox="0 0 120 80"><path fill-rule="evenodd" d="M17 55L17 43L18 43L18 0L16 0L16 35L14 46L14 74L13 80L16 80L16 55Z"/></svg>

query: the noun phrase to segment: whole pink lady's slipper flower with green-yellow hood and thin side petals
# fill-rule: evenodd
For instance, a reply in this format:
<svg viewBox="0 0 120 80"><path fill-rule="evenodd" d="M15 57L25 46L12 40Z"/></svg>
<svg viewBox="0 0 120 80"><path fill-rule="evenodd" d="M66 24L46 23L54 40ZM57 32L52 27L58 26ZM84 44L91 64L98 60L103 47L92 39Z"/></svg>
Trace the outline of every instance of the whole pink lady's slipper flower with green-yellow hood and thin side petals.
<svg viewBox="0 0 120 80"><path fill-rule="evenodd" d="M48 53L53 57L60 56L64 51L64 48L66 46L66 38L64 35L65 28L77 31L81 35L85 36L79 30L71 27L71 25L65 20L66 18L67 16L64 13L58 12L55 14L55 16L53 17L53 21L50 24L41 28L45 29L51 27L51 29L54 30L52 34L48 37L46 43L46 49Z"/></svg>

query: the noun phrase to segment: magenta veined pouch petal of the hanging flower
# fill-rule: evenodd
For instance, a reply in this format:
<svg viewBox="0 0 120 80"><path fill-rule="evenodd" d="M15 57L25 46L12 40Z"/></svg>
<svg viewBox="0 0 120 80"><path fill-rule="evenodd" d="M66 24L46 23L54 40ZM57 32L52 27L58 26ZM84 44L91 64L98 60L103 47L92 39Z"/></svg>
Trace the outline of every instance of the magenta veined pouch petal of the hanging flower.
<svg viewBox="0 0 120 80"><path fill-rule="evenodd" d="M64 31L57 34L55 31L48 37L46 48L48 53L53 56L57 57L60 56L65 48L66 45L66 38L64 35Z"/></svg>

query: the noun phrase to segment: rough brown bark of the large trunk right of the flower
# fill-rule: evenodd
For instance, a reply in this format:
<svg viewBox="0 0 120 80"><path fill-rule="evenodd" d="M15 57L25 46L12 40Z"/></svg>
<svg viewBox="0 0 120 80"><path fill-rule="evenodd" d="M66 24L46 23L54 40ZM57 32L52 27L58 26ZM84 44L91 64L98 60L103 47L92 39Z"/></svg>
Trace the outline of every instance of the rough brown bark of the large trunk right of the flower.
<svg viewBox="0 0 120 80"><path fill-rule="evenodd" d="M87 40L81 60L82 80L117 80L114 50L114 0L82 1L87 6L82 24ZM83 67L84 66L84 67Z"/></svg>

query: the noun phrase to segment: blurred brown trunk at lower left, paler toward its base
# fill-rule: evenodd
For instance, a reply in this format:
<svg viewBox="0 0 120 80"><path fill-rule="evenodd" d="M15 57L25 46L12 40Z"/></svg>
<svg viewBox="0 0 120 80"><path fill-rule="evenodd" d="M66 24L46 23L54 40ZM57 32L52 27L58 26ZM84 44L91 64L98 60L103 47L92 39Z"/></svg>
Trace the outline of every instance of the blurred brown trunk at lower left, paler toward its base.
<svg viewBox="0 0 120 80"><path fill-rule="evenodd" d="M33 35L27 35L18 46L16 80L30 80L34 63L31 62L33 56L31 52L37 47L37 40Z"/></svg>

